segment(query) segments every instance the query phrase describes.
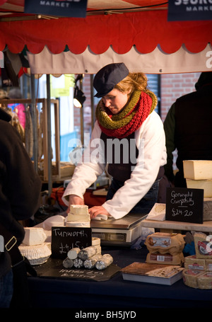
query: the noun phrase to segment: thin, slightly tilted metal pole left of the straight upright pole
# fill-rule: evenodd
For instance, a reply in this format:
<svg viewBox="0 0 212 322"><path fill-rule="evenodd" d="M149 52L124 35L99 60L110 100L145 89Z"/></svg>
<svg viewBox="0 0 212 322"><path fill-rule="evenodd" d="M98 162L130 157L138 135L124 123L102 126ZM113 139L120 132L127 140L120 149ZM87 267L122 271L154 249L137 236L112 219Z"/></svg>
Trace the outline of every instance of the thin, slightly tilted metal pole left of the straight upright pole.
<svg viewBox="0 0 212 322"><path fill-rule="evenodd" d="M34 168L35 171L38 171L37 165L37 113L36 113L36 101L35 101L35 75L30 75L30 86L31 86L31 98L32 98L32 106L31 106L31 115L33 122L33 159L34 159Z"/></svg>

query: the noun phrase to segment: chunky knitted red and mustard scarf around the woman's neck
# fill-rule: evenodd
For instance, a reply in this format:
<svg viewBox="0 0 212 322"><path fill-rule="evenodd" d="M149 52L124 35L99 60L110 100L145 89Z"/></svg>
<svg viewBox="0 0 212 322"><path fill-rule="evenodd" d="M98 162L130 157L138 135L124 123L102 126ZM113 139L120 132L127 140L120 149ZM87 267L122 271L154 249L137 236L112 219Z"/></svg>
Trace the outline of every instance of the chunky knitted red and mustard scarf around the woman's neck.
<svg viewBox="0 0 212 322"><path fill-rule="evenodd" d="M134 91L131 100L124 110L113 115L102 103L98 103L96 108L96 118L100 129L108 137L122 139L141 127L146 117L150 115L157 105L157 98L151 91Z"/></svg>

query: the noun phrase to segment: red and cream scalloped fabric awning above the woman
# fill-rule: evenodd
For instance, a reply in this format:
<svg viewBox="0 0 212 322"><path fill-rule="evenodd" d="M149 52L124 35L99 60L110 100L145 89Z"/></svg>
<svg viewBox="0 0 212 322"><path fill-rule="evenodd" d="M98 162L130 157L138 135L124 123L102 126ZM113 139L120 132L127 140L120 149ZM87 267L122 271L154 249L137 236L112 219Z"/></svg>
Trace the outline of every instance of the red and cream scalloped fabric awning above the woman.
<svg viewBox="0 0 212 322"><path fill-rule="evenodd" d="M86 18L1 21L0 50L27 47L33 74L95 74L111 62L150 74L210 71L211 30L209 20L168 21L161 0L88 0Z"/></svg>

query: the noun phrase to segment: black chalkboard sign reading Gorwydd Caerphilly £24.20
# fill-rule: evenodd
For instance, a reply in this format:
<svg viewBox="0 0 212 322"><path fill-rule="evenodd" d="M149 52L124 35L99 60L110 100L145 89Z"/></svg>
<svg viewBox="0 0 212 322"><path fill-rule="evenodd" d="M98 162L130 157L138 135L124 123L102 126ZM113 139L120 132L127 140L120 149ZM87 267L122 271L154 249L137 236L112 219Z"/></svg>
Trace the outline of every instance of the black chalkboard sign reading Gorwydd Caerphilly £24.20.
<svg viewBox="0 0 212 322"><path fill-rule="evenodd" d="M165 219L174 222L203 223L204 190L167 188Z"/></svg>

